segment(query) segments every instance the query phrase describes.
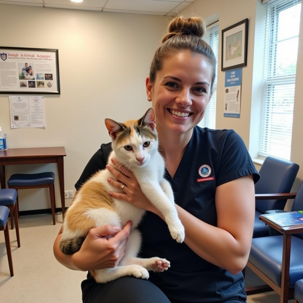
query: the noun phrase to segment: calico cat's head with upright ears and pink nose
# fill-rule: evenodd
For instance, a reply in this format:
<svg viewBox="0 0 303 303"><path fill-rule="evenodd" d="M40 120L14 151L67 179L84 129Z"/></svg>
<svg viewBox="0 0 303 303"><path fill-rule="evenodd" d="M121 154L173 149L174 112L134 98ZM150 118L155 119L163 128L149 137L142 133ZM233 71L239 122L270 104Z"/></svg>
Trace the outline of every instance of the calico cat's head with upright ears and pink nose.
<svg viewBox="0 0 303 303"><path fill-rule="evenodd" d="M112 148L121 164L132 169L143 167L153 161L158 150L153 108L150 108L139 120L118 123L105 119L105 124L112 137Z"/></svg>

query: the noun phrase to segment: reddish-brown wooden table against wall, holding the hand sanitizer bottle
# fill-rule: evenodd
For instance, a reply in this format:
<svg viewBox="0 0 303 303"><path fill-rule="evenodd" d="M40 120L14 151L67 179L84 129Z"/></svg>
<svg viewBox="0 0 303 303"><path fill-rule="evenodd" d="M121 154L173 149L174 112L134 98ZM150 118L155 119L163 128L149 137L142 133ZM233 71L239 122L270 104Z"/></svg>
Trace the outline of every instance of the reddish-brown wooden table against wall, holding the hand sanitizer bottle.
<svg viewBox="0 0 303 303"><path fill-rule="evenodd" d="M62 214L64 215L64 156L66 156L64 147L9 148L7 151L0 151L1 188L5 188L5 165L57 163Z"/></svg>

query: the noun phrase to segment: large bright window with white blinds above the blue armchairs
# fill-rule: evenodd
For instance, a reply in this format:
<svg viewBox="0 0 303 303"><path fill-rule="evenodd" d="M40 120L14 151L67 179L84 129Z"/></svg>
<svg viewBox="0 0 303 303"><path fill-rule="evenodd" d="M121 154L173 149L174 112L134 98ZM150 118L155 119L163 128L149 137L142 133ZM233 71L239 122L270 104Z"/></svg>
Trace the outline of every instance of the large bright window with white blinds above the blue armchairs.
<svg viewBox="0 0 303 303"><path fill-rule="evenodd" d="M259 157L289 160L301 0L271 0L265 5Z"/></svg>

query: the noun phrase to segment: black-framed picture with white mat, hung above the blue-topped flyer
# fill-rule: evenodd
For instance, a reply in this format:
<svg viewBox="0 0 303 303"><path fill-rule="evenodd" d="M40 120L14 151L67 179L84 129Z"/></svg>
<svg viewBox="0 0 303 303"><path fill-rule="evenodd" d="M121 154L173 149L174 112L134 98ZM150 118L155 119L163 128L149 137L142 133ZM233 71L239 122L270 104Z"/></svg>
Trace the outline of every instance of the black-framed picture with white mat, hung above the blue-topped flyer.
<svg viewBox="0 0 303 303"><path fill-rule="evenodd" d="M221 71L247 65L248 19L222 30Z"/></svg>

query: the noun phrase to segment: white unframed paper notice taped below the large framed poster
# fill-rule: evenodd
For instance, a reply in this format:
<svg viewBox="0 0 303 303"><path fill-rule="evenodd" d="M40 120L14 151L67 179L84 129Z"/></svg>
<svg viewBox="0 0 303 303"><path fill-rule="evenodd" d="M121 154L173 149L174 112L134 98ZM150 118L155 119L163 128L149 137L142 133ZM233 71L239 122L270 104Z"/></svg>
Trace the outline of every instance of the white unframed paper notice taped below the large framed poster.
<svg viewBox="0 0 303 303"><path fill-rule="evenodd" d="M9 96L11 128L45 128L43 96Z"/></svg>

